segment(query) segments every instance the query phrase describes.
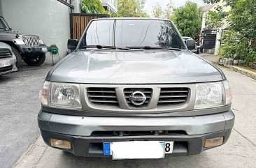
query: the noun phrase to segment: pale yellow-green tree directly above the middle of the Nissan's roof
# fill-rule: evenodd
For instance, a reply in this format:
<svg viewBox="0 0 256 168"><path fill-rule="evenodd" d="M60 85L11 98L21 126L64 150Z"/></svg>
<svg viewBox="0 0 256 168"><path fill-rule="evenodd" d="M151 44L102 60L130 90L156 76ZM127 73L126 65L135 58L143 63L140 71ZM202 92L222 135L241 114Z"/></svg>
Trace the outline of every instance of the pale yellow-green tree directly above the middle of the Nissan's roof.
<svg viewBox="0 0 256 168"><path fill-rule="evenodd" d="M145 0L118 0L118 17L149 17L144 5Z"/></svg>

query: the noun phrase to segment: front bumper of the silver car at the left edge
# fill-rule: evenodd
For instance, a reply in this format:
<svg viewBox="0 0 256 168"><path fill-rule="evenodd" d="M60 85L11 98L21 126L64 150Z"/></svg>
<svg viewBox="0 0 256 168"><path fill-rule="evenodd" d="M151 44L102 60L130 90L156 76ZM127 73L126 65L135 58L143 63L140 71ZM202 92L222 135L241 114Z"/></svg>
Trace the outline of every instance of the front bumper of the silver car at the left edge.
<svg viewBox="0 0 256 168"><path fill-rule="evenodd" d="M17 71L15 56L0 59L0 75Z"/></svg>

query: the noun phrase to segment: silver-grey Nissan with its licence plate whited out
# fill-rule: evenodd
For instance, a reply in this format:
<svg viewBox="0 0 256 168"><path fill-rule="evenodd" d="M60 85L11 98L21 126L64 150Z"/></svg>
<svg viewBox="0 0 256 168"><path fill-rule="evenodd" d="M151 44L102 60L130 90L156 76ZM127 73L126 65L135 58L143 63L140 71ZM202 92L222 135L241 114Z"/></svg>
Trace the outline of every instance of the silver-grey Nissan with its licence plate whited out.
<svg viewBox="0 0 256 168"><path fill-rule="evenodd" d="M194 47L170 20L92 20L45 78L44 142L114 160L196 155L225 144L234 125L229 83Z"/></svg>

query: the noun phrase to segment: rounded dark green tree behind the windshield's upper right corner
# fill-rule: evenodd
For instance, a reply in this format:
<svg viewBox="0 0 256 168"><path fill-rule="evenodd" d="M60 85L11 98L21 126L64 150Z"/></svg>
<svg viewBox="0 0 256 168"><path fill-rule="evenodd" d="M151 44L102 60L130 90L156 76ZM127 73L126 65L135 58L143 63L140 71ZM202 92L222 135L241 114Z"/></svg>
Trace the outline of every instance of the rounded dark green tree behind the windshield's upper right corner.
<svg viewBox="0 0 256 168"><path fill-rule="evenodd" d="M187 1L185 6L174 9L171 18L182 36L189 36L194 39L199 38L202 13L197 3Z"/></svg>

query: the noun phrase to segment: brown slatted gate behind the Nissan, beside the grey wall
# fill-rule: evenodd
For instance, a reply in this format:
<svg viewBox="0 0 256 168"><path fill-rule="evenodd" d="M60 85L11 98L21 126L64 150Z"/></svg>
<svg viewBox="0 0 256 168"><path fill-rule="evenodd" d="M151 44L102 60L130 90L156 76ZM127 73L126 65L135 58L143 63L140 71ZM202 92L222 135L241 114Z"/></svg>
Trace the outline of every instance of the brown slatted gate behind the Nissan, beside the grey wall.
<svg viewBox="0 0 256 168"><path fill-rule="evenodd" d="M71 13L70 14L71 38L80 40L90 20L104 18L104 17L108 17L108 15Z"/></svg>

